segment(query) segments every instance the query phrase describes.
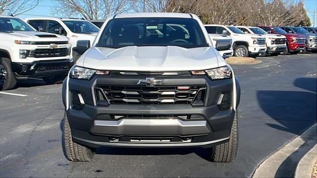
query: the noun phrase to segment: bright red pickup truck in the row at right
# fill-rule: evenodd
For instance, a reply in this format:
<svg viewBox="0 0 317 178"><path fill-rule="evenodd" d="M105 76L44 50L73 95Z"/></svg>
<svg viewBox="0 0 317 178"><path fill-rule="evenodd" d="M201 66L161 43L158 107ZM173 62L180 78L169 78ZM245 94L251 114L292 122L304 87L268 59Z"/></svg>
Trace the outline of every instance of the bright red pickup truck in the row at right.
<svg viewBox="0 0 317 178"><path fill-rule="evenodd" d="M279 27L271 27L271 26L258 26L262 28L267 33L271 34L279 34L286 37L286 45L287 48L285 52L281 53L281 55L286 55L288 52L291 54L297 54L303 51L306 47L306 38L301 34L290 34L285 32L283 29Z"/></svg>

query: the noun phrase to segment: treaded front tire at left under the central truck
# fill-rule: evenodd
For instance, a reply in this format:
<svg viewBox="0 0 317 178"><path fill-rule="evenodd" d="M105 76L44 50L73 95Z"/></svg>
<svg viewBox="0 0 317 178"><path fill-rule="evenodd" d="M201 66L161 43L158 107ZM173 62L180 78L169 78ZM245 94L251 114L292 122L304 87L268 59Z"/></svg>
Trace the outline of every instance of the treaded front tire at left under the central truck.
<svg viewBox="0 0 317 178"><path fill-rule="evenodd" d="M92 148L73 142L66 112L63 118L63 151L69 161L90 161L94 157Z"/></svg>

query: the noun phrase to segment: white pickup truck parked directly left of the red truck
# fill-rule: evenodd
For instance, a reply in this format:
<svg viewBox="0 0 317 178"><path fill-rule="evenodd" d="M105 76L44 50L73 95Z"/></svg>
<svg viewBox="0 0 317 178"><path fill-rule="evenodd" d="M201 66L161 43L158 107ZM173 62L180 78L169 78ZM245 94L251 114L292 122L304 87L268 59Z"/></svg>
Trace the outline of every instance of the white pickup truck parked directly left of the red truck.
<svg viewBox="0 0 317 178"><path fill-rule="evenodd" d="M264 52L260 57L264 57L266 53L270 55L278 55L281 52L285 52L286 46L286 37L283 35L277 34L268 34L259 27L249 27L249 26L235 26L240 29L245 34L258 34L265 37L266 43L266 52Z"/></svg>

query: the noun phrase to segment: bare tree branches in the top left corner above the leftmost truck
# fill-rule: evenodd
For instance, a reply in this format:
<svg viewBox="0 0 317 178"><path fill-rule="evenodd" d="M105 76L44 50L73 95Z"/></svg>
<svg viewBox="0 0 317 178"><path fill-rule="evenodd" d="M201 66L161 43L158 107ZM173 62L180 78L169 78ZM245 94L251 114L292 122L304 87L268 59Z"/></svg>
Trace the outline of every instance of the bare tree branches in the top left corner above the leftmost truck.
<svg viewBox="0 0 317 178"><path fill-rule="evenodd" d="M0 14L20 15L39 5L40 0L0 0Z"/></svg>

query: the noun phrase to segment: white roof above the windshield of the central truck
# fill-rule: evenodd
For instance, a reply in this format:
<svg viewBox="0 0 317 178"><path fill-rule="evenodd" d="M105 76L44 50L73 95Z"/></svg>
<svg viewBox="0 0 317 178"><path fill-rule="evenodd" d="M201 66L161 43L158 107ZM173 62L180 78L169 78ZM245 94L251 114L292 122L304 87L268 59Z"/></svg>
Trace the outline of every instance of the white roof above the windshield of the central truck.
<svg viewBox="0 0 317 178"><path fill-rule="evenodd" d="M195 15L196 16L196 15ZM166 12L151 12L151 13L121 13L113 15L112 18L129 18L129 17L176 17L176 18L193 18L193 14L186 13L166 13Z"/></svg>

